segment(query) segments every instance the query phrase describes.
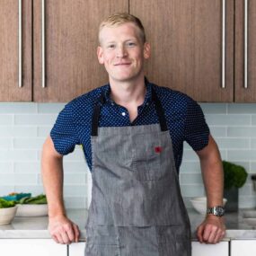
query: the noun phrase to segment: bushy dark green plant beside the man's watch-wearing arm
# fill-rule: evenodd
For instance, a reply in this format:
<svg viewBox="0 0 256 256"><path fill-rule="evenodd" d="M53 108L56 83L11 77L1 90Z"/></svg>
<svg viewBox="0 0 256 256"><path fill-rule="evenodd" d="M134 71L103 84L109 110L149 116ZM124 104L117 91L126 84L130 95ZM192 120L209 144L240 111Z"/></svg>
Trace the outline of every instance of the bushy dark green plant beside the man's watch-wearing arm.
<svg viewBox="0 0 256 256"><path fill-rule="evenodd" d="M241 188L245 183L248 173L243 166L223 161L224 189Z"/></svg>

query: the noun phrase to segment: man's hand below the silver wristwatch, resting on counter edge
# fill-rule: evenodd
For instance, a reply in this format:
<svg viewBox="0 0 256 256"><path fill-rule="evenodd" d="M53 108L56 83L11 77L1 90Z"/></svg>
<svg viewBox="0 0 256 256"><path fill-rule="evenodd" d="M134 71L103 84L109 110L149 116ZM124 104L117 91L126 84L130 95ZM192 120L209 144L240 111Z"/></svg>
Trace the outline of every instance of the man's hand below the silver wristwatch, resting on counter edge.
<svg viewBox="0 0 256 256"><path fill-rule="evenodd" d="M225 237L224 217L207 215L197 235L200 243L219 243Z"/></svg>

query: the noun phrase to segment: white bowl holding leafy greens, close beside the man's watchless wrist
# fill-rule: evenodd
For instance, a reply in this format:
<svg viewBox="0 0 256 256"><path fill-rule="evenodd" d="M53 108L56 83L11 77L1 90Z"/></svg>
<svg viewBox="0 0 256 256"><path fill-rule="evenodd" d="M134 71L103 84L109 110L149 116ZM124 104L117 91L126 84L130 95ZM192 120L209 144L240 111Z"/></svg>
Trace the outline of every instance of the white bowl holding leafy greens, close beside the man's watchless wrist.
<svg viewBox="0 0 256 256"><path fill-rule="evenodd" d="M16 216L47 216L48 204L42 205L17 205L18 210Z"/></svg>

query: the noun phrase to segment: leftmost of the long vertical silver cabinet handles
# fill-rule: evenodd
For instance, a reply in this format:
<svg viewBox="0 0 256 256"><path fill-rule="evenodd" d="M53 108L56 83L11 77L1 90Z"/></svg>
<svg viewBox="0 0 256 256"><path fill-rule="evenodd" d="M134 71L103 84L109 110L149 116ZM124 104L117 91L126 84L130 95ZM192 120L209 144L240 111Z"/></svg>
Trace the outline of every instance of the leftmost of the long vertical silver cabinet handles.
<svg viewBox="0 0 256 256"><path fill-rule="evenodd" d="M22 0L19 0L19 24L18 24L18 37L19 37L19 46L18 46L18 51L19 51L19 60L18 60L18 73L19 73L19 81L18 81L18 84L19 84L19 88L22 88Z"/></svg>

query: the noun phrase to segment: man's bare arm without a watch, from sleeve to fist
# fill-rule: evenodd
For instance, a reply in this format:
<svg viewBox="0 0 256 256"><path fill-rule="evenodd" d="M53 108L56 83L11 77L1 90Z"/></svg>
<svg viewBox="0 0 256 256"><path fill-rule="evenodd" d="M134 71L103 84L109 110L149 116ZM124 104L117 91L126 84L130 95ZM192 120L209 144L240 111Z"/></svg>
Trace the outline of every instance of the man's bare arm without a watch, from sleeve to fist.
<svg viewBox="0 0 256 256"><path fill-rule="evenodd" d="M72 243L78 242L79 229L66 217L62 160L48 137L42 150L41 174L49 205L49 233L57 243Z"/></svg>

